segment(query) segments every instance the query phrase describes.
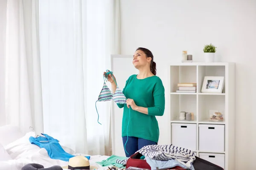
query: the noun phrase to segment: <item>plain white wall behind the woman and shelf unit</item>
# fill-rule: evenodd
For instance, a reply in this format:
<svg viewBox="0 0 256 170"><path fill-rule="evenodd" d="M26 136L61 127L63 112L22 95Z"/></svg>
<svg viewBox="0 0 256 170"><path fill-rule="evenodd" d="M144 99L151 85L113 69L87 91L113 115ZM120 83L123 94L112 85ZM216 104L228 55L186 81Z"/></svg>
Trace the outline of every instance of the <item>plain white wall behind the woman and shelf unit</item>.
<svg viewBox="0 0 256 170"><path fill-rule="evenodd" d="M217 46L217 61L236 62L234 164L255 169L256 0L121 0L121 54L150 49L166 90L169 63L180 62L183 50L204 61L208 43ZM167 114L159 118L161 134L168 133ZM162 135L160 143L166 142Z"/></svg>

